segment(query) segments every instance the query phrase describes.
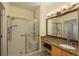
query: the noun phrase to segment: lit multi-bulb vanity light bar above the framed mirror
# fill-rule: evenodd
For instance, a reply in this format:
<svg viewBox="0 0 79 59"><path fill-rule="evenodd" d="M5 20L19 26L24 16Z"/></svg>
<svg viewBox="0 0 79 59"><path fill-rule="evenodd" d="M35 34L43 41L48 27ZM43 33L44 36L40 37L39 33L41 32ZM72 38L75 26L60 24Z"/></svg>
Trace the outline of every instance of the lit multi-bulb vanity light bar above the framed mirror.
<svg viewBox="0 0 79 59"><path fill-rule="evenodd" d="M69 10L74 8L77 4L78 4L77 2L75 2L75 3L71 2L71 4L69 6L64 5L60 9L57 9L56 11L54 11L54 12L52 11L49 14L47 14L47 17L56 16L56 15L58 16L62 13L68 12Z"/></svg>

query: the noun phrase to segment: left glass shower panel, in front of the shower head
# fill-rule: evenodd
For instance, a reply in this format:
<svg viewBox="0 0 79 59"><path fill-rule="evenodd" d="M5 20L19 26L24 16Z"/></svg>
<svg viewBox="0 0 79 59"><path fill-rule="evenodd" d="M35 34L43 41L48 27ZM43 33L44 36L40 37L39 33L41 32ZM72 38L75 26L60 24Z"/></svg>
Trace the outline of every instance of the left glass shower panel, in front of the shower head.
<svg viewBox="0 0 79 59"><path fill-rule="evenodd" d="M8 20L8 55L25 54L25 20Z"/></svg>

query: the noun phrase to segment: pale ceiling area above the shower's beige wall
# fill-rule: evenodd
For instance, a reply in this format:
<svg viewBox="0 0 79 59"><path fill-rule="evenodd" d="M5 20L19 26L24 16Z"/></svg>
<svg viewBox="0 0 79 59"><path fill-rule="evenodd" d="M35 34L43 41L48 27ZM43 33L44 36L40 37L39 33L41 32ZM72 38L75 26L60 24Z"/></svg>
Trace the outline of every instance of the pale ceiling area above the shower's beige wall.
<svg viewBox="0 0 79 59"><path fill-rule="evenodd" d="M41 4L50 4L50 3L51 2L10 2L10 5L26 8L33 11L36 8L38 8Z"/></svg>

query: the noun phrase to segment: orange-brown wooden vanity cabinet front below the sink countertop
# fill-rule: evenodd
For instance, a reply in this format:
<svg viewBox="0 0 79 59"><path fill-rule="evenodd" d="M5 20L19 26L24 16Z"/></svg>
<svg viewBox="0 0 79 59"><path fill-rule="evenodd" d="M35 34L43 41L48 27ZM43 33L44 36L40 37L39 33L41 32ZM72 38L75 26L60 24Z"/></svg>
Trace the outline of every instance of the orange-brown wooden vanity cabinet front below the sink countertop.
<svg viewBox="0 0 79 59"><path fill-rule="evenodd" d="M64 51L63 49L60 49L55 46L52 47L51 55L52 56L73 56L71 53Z"/></svg>

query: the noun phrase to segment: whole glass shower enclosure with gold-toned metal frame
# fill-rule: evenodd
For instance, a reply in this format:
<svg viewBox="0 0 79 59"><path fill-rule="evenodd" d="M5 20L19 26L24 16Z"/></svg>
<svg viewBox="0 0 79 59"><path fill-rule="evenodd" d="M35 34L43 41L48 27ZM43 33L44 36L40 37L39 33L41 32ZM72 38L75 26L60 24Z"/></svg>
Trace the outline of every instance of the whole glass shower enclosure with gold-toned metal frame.
<svg viewBox="0 0 79 59"><path fill-rule="evenodd" d="M25 55L39 49L38 20L8 17L8 55Z"/></svg>

